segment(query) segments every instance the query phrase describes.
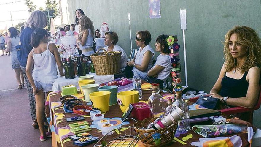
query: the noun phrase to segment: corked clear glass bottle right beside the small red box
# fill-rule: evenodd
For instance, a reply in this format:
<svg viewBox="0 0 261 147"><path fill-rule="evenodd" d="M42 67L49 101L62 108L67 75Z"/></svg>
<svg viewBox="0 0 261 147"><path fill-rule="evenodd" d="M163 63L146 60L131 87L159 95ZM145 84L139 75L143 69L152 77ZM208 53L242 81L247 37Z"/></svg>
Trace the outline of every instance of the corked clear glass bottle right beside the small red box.
<svg viewBox="0 0 261 147"><path fill-rule="evenodd" d="M159 94L160 85L159 84L151 84L152 95L149 96L148 105L150 107L151 116L159 117L162 114L165 114L166 105L163 100L163 97Z"/></svg>

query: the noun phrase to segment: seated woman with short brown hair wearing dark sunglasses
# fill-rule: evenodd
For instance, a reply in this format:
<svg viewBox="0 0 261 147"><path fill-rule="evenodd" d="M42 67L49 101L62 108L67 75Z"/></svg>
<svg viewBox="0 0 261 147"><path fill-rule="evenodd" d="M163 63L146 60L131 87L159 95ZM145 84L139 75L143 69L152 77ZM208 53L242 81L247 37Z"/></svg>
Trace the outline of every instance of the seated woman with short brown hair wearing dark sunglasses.
<svg viewBox="0 0 261 147"><path fill-rule="evenodd" d="M136 33L136 45L139 46L136 58L129 61L128 66L133 66L133 74L145 80L147 72L152 67L154 50L150 47L151 35L149 31L139 31ZM128 77L128 76L127 76Z"/></svg>

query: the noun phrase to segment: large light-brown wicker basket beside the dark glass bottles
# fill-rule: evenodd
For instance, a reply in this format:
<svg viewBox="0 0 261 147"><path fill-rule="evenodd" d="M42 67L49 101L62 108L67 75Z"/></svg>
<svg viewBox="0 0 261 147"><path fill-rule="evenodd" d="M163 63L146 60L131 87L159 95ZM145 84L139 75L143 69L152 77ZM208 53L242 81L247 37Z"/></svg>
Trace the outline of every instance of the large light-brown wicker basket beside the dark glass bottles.
<svg viewBox="0 0 261 147"><path fill-rule="evenodd" d="M104 52L99 52L104 50ZM91 56L96 75L113 75L120 72L121 52L107 52L100 48Z"/></svg>

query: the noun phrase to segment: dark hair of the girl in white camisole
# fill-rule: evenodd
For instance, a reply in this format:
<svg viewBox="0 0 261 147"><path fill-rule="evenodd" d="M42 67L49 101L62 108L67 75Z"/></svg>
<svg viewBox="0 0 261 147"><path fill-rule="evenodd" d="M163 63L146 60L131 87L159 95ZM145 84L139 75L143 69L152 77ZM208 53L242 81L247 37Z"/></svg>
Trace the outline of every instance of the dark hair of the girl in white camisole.
<svg viewBox="0 0 261 147"><path fill-rule="evenodd" d="M48 36L48 33L45 29L38 28L34 30L34 33L32 34L31 37L31 45L34 48L37 48L41 42L42 39L44 39L45 36Z"/></svg>

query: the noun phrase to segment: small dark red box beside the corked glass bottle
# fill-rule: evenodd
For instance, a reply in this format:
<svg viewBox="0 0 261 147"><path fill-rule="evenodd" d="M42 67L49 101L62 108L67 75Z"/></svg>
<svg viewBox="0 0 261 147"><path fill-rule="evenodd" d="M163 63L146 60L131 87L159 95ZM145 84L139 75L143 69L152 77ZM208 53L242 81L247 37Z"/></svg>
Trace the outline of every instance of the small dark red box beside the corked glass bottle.
<svg viewBox="0 0 261 147"><path fill-rule="evenodd" d="M139 102L133 105L132 115L138 120L143 120L145 118L151 117L151 112L149 110L149 105L144 102Z"/></svg>

